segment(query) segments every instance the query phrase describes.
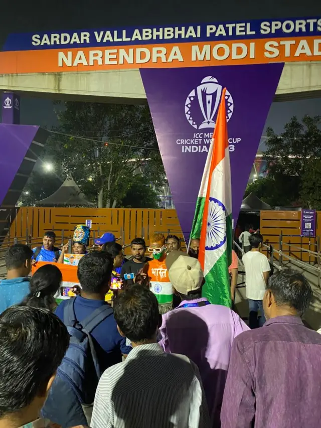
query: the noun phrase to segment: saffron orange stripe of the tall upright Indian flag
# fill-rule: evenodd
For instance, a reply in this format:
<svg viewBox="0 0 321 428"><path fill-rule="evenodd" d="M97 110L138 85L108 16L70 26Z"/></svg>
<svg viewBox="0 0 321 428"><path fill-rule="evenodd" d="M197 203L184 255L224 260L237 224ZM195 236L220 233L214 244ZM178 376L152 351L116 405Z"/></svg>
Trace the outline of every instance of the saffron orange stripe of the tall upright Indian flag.
<svg viewBox="0 0 321 428"><path fill-rule="evenodd" d="M199 261L203 269L204 269L204 263L205 263L205 241L206 241L207 218L208 218L208 212L209 212L209 199L210 199L210 191L211 191L212 174L215 168L217 167L217 165L224 159L225 149L228 147L225 93L226 93L226 88L224 88L222 92L221 103L217 114L217 121L215 124L215 129L213 134L214 150L213 150L213 156L211 160L209 183L207 186L205 205L204 205L204 214L203 214L201 237L200 237L200 251L199 251Z"/></svg>

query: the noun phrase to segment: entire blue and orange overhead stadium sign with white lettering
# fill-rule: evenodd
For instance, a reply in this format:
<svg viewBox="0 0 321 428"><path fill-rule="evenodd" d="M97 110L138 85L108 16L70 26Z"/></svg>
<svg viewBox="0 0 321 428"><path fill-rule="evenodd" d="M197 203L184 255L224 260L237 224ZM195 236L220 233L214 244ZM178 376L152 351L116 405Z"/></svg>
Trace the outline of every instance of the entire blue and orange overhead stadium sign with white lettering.
<svg viewBox="0 0 321 428"><path fill-rule="evenodd" d="M321 18L302 18L11 34L0 52L0 73L320 59Z"/></svg>

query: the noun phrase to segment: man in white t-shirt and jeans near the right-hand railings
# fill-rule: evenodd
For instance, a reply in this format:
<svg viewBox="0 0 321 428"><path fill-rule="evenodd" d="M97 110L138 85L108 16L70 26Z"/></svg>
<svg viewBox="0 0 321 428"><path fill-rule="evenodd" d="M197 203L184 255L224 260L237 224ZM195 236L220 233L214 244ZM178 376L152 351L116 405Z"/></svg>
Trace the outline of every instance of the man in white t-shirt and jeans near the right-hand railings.
<svg viewBox="0 0 321 428"><path fill-rule="evenodd" d="M249 327L251 329L262 327L265 323L262 300L265 294L267 281L270 275L270 263L267 257L260 253L263 236L255 233L250 236L251 250L243 255L245 268L246 297L249 301ZM261 318L258 319L260 310Z"/></svg>

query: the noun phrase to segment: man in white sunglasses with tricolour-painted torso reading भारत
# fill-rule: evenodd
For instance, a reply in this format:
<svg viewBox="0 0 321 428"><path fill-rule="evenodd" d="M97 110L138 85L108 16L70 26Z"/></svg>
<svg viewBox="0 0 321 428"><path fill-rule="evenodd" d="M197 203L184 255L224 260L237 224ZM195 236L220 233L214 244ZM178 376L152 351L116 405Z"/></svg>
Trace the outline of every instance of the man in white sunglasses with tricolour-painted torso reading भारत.
<svg viewBox="0 0 321 428"><path fill-rule="evenodd" d="M166 267L166 242L162 233L150 237L148 248L153 259L148 262L147 275L150 279L150 290L157 298L159 313L166 314L173 309L173 287Z"/></svg>

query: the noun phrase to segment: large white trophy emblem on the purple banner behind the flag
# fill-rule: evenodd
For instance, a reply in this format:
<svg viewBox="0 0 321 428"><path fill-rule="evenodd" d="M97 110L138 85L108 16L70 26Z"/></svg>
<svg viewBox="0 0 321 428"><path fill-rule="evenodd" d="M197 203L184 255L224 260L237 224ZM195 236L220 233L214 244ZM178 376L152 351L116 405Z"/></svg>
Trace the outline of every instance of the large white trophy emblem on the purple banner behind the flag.
<svg viewBox="0 0 321 428"><path fill-rule="evenodd" d="M214 128L223 86L215 77L205 77L193 89L185 102L185 116L195 129ZM232 95L226 90L226 119L230 120L234 110Z"/></svg>

